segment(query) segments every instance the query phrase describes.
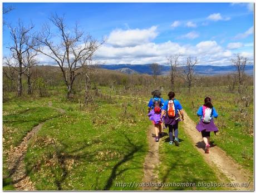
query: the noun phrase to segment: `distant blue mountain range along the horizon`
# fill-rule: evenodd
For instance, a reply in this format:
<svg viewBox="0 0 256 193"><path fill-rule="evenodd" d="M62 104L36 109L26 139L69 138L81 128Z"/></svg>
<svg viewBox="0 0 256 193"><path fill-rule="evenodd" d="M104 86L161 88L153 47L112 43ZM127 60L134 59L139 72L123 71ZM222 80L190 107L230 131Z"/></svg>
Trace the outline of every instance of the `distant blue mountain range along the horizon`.
<svg viewBox="0 0 256 193"><path fill-rule="evenodd" d="M161 75L167 75L170 71L169 66L165 65L160 65L162 70L161 70ZM152 70L150 67L150 64L147 65L130 65L130 64L121 64L121 65L99 65L98 67L104 68L107 70L115 70L115 71L120 71L122 73L126 74L135 74L135 73L145 73L148 75L152 75ZM181 68L181 67L179 67ZM235 72L235 67L234 66L210 66L210 65L196 65L195 66L195 73L198 75L205 75L205 76L210 76L210 75L224 75L227 73ZM248 65L245 66L245 73L248 75L253 75L253 65Z"/></svg>

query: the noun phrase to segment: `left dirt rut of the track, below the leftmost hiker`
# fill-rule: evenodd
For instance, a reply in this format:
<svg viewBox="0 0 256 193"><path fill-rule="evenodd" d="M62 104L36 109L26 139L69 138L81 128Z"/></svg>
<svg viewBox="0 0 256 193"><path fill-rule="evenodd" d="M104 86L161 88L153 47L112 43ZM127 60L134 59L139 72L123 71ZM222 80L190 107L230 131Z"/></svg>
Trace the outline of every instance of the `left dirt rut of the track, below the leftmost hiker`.
<svg viewBox="0 0 256 193"><path fill-rule="evenodd" d="M144 161L144 177L142 182L157 182L158 174L155 172L156 166L159 165L159 142L155 142L154 127L150 126L147 131L147 140L149 141L149 151ZM152 190L153 187L143 187L143 190Z"/></svg>

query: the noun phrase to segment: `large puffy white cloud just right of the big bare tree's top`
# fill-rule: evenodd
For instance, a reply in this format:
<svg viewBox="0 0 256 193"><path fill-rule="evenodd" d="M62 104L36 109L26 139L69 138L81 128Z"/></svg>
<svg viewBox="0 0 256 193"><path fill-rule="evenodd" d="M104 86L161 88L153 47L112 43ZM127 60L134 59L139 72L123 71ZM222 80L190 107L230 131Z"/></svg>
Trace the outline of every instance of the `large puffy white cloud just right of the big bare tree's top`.
<svg viewBox="0 0 256 193"><path fill-rule="evenodd" d="M148 29L116 29L110 33L107 43L117 47L148 43L157 36L156 29L156 26Z"/></svg>

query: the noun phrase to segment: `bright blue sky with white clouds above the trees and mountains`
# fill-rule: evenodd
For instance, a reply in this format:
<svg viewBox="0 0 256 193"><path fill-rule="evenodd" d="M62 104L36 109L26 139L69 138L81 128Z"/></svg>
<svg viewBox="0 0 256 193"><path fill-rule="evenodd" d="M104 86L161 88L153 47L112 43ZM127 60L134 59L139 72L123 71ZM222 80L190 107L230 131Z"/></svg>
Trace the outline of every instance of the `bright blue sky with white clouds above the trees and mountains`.
<svg viewBox="0 0 256 193"><path fill-rule="evenodd" d="M93 37L107 38L95 55L99 63L165 63L166 56L196 56L200 64L228 65L235 53L253 59L252 3L3 3L4 16L33 22L35 31L52 13L65 14ZM3 53L10 43L3 27ZM41 57L47 62L48 58Z"/></svg>

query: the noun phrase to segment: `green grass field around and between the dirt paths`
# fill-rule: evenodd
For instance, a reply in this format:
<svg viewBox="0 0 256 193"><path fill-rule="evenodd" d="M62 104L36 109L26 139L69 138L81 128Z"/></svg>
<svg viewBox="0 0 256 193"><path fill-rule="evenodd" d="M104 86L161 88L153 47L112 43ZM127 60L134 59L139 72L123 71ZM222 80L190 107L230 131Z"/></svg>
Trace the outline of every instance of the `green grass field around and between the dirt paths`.
<svg viewBox="0 0 256 193"><path fill-rule="evenodd" d="M204 96L194 95L197 108ZM192 99L187 96L176 95L188 115L197 121L195 108L191 107ZM49 101L65 113L48 107ZM233 106L231 103L223 105L220 101L221 98L215 96L213 104L219 113L218 121L225 123L225 130L220 128L220 135L213 140L252 171L253 138L228 121ZM27 175L35 182L37 190L141 190L141 187L120 187L116 183L142 182L148 150L146 133L151 124L146 109L145 101L120 98L97 98L82 108L77 102L67 102L62 97L11 99L3 103L3 175L8 176L8 150L17 146L34 126L45 122L29 142L24 159ZM218 121L217 125L220 124ZM168 136L162 138L166 142L160 142L159 181L220 182L185 135L182 123L179 132L180 147L170 147ZM235 143L239 143L239 147ZM4 190L14 189L9 177L4 178L3 186ZM164 187L163 190L217 189Z"/></svg>

